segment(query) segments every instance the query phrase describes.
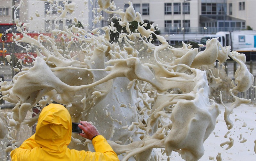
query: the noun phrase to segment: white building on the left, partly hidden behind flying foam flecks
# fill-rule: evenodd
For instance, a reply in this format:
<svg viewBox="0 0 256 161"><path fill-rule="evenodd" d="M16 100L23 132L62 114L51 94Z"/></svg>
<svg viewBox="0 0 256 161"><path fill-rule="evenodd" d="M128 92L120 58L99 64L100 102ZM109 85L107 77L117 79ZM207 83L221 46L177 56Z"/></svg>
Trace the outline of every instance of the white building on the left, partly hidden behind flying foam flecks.
<svg viewBox="0 0 256 161"><path fill-rule="evenodd" d="M92 3L91 3L92 1ZM20 0L0 0L0 23L12 23L12 3L15 2L17 6ZM30 24L27 30L29 32L50 32L54 28L63 29L64 26L69 26L74 23L73 19L76 18L80 21L85 29L92 29L93 27L100 27L107 25L108 15L104 12L92 12L93 8L98 7L98 0L55 0L51 1L36 1L36 0L23 0L23 5L17 10L17 18L20 21ZM58 18L62 13L65 4L75 4L74 11L67 13L65 18ZM124 8L123 1L116 1L116 7ZM62 9L61 9L62 8ZM92 20L96 14L103 14L106 18L97 24L93 24ZM57 26L54 20L57 20Z"/></svg>

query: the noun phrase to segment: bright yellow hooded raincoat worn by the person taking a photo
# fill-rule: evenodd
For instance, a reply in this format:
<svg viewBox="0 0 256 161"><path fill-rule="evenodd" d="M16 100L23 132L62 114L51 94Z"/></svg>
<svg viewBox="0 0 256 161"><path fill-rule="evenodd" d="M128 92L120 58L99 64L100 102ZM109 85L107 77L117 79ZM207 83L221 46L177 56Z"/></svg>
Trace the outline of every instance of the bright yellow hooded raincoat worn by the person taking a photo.
<svg viewBox="0 0 256 161"><path fill-rule="evenodd" d="M68 110L50 104L41 111L36 133L12 150L12 161L117 161L116 153L102 135L92 140L96 152L68 149L72 123Z"/></svg>

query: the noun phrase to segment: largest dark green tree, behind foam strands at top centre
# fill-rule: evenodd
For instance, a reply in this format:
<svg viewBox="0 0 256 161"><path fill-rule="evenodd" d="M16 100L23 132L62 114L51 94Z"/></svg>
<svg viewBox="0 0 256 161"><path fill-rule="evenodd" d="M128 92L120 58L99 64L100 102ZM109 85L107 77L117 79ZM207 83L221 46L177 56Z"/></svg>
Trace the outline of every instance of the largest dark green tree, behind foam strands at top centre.
<svg viewBox="0 0 256 161"><path fill-rule="evenodd" d="M116 27L117 32L114 33L113 31L110 31L110 41L109 42L111 42L111 43L117 42L117 39L119 37L119 33L120 34L121 33L129 34L126 31L126 27L122 27L122 26L119 25L117 19L113 19L112 22L114 23L114 27ZM148 24L147 24L147 26L144 26L144 28L150 29L150 25L153 24L154 22L149 21L149 20L144 20L144 24L145 23L148 23ZM137 21L132 21L132 22L130 22L130 24L131 25L129 27L130 27L131 32L135 32L135 30L138 28L138 22ZM109 23L109 25L111 26L111 23ZM142 24L140 23L140 26L141 25ZM156 30L155 34L160 34L160 31L158 30L158 28L155 27L155 30ZM156 35L154 35L154 34L152 34L152 38L153 38L152 42L156 41L156 39L157 39Z"/></svg>

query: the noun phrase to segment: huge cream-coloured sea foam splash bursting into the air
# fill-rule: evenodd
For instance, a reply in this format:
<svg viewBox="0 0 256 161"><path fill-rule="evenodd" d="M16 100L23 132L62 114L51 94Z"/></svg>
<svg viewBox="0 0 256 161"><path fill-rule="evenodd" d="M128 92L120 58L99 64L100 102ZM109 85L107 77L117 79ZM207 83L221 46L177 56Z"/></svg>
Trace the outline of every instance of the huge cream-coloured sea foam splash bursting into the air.
<svg viewBox="0 0 256 161"><path fill-rule="evenodd" d="M22 0L17 8L21 4ZM12 112L6 115L10 124L5 125L0 119L1 138L5 136L7 127L32 126L38 115L25 119L27 112L55 101L66 105L73 122L87 120L94 123L124 161L132 157L138 161L153 159L154 148L165 148L167 155L177 151L187 161L198 160L204 154L203 143L212 133L220 112L218 104L209 99L206 73L200 68L203 65L214 66L216 60L220 66L229 57L235 60L239 67L230 89L234 96L232 92L243 92L252 86L253 76L245 66L245 55L230 52L230 47L220 46L217 39L207 41L206 49L201 52L185 43L182 48L174 48L163 36L154 33L153 25L148 30L140 26L142 17L135 12L131 2L125 12L116 9L110 0L99 0L98 4L100 8L97 11L114 14L119 25L126 27L128 34L120 33L118 38L123 45L109 42L110 31L117 32L113 26L88 32L73 25L63 30L52 30L53 35L60 36L63 49L53 38L43 34L37 39L29 37L19 19L15 19L17 31L23 35L16 36L15 42L17 45L19 42L28 43L23 48L27 51L33 48L37 57L33 58L31 67L22 68L13 77L10 85L6 82L1 85L2 98L15 104ZM67 12L75 11L74 3L64 7L58 19L64 18ZM129 28L131 21L138 22L135 33ZM153 34L160 45L151 43ZM139 51L134 49L137 40L142 45ZM141 62L143 50L153 55L153 63ZM170 61L159 56L164 50L171 55ZM233 127L229 119L233 109L251 101L234 98L231 107L225 106L228 129ZM70 146L84 149L87 142L76 139L72 141L79 145L71 143ZM232 146L230 142L225 144ZM220 158L221 154L218 154L216 159Z"/></svg>

